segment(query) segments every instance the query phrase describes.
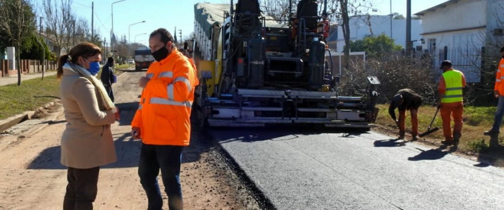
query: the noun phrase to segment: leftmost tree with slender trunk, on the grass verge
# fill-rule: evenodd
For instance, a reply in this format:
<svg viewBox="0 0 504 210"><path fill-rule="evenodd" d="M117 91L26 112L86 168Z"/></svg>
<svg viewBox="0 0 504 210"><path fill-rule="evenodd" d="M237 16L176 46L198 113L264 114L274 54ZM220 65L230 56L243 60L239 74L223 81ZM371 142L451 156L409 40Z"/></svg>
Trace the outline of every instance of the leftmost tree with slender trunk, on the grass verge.
<svg viewBox="0 0 504 210"><path fill-rule="evenodd" d="M21 43L35 31L35 14L28 0L0 0L0 28L17 49L18 86L21 85Z"/></svg>

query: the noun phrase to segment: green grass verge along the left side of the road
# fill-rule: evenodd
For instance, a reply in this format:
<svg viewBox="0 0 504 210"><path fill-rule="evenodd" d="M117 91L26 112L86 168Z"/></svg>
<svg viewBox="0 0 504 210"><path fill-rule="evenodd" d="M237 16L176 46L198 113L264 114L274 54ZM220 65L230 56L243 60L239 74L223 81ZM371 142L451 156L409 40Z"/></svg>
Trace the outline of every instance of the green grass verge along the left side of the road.
<svg viewBox="0 0 504 210"><path fill-rule="evenodd" d="M21 86L0 86L0 119L5 119L25 111L33 111L39 106L59 98L59 82L56 76L26 80Z"/></svg>

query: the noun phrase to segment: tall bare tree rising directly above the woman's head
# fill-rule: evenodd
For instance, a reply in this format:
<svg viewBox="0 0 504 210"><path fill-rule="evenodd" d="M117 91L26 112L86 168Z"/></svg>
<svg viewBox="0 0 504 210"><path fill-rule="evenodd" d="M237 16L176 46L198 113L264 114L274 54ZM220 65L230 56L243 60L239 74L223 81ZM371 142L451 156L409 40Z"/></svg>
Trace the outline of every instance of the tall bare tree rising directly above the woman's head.
<svg viewBox="0 0 504 210"><path fill-rule="evenodd" d="M53 4L54 3L54 4ZM45 13L45 33L54 39L56 47L59 51L56 52L57 57L61 55L61 50L65 47L70 50L71 38L73 35L73 28L75 17L72 13L72 0L61 0L52 2L46 0L42 4Z"/></svg>

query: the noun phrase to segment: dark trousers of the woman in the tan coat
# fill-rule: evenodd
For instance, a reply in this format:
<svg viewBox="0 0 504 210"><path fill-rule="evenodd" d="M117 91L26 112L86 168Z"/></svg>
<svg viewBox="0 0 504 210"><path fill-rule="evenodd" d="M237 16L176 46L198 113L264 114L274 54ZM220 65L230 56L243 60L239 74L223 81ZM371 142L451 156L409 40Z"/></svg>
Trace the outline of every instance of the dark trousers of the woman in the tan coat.
<svg viewBox="0 0 504 210"><path fill-rule="evenodd" d="M93 209L93 201L98 192L100 167L90 169L68 168L68 185L63 209Z"/></svg>

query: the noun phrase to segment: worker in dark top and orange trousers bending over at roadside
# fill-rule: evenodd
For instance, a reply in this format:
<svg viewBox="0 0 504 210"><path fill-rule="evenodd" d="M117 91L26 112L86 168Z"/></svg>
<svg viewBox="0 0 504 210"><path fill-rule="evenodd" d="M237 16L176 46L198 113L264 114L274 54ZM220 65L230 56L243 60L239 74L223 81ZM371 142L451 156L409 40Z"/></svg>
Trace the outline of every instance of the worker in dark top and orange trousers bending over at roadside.
<svg viewBox="0 0 504 210"><path fill-rule="evenodd" d="M397 94L392 97L392 101L389 106L389 114L399 127L399 137L397 139L403 139L404 134L406 133L404 126L406 120L406 110L410 110L411 114L411 136L413 137L413 140L417 139L418 108L420 105L422 105L422 97L411 89L399 90ZM399 109L399 119L396 119L396 108Z"/></svg>

